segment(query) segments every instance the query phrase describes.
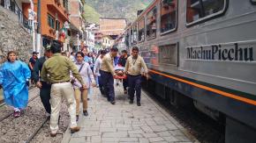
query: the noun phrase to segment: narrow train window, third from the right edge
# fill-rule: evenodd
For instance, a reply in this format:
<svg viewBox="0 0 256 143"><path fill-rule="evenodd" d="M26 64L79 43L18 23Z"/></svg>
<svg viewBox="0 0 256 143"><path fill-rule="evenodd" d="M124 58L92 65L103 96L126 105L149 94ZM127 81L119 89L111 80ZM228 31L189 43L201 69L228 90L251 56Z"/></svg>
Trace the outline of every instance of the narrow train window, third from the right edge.
<svg viewBox="0 0 256 143"><path fill-rule="evenodd" d="M156 7L147 13L147 39L156 37L156 16Z"/></svg>

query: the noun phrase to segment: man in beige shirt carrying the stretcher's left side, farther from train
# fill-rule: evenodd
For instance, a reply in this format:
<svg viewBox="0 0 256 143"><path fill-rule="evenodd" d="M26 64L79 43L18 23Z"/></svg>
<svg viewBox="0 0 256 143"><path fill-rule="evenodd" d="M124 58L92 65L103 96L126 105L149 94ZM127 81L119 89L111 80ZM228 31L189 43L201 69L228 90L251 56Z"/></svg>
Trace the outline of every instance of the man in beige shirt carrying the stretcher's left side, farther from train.
<svg viewBox="0 0 256 143"><path fill-rule="evenodd" d="M114 58L117 56L117 47L112 47L109 54L106 54L102 59L102 66L100 68L101 80L103 84L104 93L111 104L116 104L114 91L114 78L117 75L114 70Z"/></svg>

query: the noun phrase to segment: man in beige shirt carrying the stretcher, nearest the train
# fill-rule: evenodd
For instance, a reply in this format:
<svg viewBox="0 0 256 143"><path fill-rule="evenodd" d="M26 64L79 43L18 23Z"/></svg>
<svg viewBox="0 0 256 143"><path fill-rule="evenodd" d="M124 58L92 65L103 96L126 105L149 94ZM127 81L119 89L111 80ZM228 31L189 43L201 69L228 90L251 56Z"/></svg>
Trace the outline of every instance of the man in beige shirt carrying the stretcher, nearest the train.
<svg viewBox="0 0 256 143"><path fill-rule="evenodd" d="M147 75L147 66L141 56L139 56L139 48L137 46L132 47L132 55L127 59L124 73L127 73L128 80L128 94L130 98L130 104L133 104L134 93L136 91L137 105L140 106L141 95L141 70L144 69L144 73Z"/></svg>

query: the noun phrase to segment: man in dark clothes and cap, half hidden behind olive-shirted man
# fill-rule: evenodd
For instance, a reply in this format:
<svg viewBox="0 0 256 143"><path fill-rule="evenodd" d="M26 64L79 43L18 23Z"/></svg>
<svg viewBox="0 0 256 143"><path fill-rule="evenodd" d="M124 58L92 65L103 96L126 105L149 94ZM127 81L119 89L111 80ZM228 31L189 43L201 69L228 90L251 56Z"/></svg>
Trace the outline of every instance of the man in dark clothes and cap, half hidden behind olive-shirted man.
<svg viewBox="0 0 256 143"><path fill-rule="evenodd" d="M45 61L47 61L52 56L52 53L50 51L50 46L47 46L45 48L44 56L38 59L38 61L34 64L34 70L33 70L33 79L36 83L36 86L40 89L40 97L41 97L41 103L43 104L43 107L45 111L50 115L51 109L50 109L50 88L51 85L49 82L43 81L39 74L41 72L42 65Z"/></svg>

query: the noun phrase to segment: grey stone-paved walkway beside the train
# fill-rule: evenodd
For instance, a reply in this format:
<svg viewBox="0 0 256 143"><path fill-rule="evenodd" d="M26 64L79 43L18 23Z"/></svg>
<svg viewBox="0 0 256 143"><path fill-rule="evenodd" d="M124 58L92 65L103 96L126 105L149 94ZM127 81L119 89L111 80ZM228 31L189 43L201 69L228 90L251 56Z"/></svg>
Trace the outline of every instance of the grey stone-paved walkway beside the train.
<svg viewBox="0 0 256 143"><path fill-rule="evenodd" d="M194 142L192 136L166 111L142 92L141 106L129 104L121 86L115 87L116 102L112 105L100 96L98 89L88 102L88 117L80 114L79 132L64 134L64 143L115 142Z"/></svg>

